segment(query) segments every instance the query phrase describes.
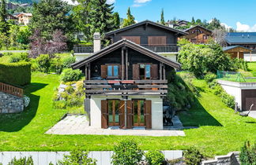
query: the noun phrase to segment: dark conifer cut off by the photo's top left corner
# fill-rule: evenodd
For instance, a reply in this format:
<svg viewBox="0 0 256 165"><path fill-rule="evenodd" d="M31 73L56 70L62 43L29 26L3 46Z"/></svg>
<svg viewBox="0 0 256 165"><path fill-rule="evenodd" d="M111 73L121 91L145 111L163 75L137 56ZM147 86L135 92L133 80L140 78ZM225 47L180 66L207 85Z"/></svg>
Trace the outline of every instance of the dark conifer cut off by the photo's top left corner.
<svg viewBox="0 0 256 165"><path fill-rule="evenodd" d="M9 24L6 21L7 18L7 11L6 11L6 1L1 1L0 6L0 32L2 33L8 33L9 31Z"/></svg>

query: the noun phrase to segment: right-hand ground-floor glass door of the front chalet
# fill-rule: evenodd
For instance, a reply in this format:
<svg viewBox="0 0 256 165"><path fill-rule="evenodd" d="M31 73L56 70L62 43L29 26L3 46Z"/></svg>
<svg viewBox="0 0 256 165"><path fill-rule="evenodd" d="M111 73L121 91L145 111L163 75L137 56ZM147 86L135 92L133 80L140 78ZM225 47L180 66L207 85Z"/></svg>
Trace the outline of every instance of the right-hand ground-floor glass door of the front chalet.
<svg viewBox="0 0 256 165"><path fill-rule="evenodd" d="M145 127L145 101L133 101L134 127Z"/></svg>

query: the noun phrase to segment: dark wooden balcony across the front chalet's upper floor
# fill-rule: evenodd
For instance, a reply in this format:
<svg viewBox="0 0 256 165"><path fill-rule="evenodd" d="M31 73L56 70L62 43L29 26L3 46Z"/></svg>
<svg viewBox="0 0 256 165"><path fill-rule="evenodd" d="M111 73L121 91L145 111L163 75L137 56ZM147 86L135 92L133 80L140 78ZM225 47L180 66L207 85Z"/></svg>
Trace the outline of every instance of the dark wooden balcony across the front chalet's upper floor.
<svg viewBox="0 0 256 165"><path fill-rule="evenodd" d="M167 80L85 80L87 95L160 95L168 93Z"/></svg>

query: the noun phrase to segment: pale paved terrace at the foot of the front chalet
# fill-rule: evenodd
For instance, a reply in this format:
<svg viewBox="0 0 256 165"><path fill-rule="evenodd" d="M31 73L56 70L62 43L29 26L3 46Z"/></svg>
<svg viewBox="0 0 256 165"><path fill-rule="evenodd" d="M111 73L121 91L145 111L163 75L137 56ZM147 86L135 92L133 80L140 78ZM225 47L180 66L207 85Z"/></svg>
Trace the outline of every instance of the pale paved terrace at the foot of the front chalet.
<svg viewBox="0 0 256 165"><path fill-rule="evenodd" d="M50 130L47 130L46 134L96 134L152 137L185 136L183 130L113 130L89 127L86 116L66 116L66 118L59 121Z"/></svg>

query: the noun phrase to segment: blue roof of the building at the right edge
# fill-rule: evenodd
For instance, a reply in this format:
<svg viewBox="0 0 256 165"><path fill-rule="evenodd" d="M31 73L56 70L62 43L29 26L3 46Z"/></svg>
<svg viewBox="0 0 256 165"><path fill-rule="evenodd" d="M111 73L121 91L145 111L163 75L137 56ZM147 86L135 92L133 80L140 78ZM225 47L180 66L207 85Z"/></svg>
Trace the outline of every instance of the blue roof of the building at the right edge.
<svg viewBox="0 0 256 165"><path fill-rule="evenodd" d="M232 32L227 33L228 44L256 44L256 32Z"/></svg>

